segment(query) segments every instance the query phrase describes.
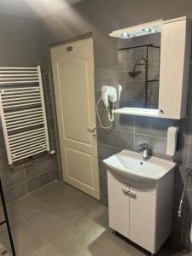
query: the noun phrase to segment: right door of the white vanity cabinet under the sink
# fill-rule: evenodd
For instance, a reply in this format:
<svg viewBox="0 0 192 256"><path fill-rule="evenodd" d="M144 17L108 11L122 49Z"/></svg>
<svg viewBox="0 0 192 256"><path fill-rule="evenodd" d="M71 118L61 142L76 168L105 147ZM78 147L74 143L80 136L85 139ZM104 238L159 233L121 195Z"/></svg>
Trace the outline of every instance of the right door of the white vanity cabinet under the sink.
<svg viewBox="0 0 192 256"><path fill-rule="evenodd" d="M130 240L154 250L156 196L130 187Z"/></svg>

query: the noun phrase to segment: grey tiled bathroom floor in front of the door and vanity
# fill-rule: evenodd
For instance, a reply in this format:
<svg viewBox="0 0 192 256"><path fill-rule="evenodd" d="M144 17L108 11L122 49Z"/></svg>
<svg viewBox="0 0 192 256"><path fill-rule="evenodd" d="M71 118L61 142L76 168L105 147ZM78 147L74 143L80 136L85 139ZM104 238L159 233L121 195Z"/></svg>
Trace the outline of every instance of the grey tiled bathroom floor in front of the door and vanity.
<svg viewBox="0 0 192 256"><path fill-rule="evenodd" d="M18 256L149 255L108 228L108 209L64 183L51 183L8 207ZM9 248L6 230L0 241ZM190 255L160 250L158 256Z"/></svg>

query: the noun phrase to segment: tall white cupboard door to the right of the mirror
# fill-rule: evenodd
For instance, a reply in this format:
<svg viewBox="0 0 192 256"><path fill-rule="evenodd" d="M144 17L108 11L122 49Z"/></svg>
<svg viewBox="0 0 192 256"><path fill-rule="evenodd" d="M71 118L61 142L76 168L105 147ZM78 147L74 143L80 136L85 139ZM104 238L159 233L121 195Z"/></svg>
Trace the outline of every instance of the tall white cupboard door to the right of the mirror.
<svg viewBox="0 0 192 256"><path fill-rule="evenodd" d="M186 115L189 83L189 20L165 24L162 27L160 47L160 115L181 119Z"/></svg>

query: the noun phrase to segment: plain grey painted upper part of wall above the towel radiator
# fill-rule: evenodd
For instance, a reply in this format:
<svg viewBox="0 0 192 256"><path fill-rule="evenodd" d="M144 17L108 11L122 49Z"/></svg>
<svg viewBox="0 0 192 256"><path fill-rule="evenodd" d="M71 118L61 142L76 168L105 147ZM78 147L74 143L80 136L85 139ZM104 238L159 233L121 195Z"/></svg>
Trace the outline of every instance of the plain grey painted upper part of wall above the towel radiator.
<svg viewBox="0 0 192 256"><path fill-rule="evenodd" d="M0 65L35 66L45 60L42 32L38 20L0 15Z"/></svg>

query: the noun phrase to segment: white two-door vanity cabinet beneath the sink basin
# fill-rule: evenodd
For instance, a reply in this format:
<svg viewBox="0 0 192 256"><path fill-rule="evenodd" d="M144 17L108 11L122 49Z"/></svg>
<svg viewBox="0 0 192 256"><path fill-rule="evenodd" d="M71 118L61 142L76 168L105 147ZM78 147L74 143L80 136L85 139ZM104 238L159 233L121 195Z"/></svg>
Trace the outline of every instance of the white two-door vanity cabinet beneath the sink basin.
<svg viewBox="0 0 192 256"><path fill-rule="evenodd" d="M173 172L150 187L137 187L108 171L109 226L150 253L172 230Z"/></svg>

